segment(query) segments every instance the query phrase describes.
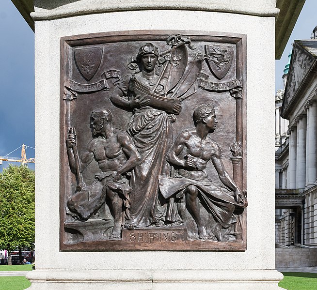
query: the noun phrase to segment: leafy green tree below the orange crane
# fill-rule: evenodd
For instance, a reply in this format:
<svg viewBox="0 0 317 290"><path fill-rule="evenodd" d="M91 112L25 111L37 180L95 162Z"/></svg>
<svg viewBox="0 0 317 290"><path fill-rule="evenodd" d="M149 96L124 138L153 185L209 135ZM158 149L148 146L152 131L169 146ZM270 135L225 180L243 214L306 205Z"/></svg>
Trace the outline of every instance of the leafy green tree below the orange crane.
<svg viewBox="0 0 317 290"><path fill-rule="evenodd" d="M0 173L0 249L10 253L16 248L33 248L34 198L34 171L13 165L3 169Z"/></svg>

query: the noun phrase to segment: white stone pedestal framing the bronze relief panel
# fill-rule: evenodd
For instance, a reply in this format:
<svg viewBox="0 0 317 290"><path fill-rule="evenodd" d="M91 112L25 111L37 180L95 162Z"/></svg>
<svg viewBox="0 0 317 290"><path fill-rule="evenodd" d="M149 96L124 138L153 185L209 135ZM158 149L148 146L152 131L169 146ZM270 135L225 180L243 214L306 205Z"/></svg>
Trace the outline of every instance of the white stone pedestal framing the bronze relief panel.
<svg viewBox="0 0 317 290"><path fill-rule="evenodd" d="M32 281L30 290L280 289L283 276L275 270L274 259L275 1L186 0L172 5L161 0L83 0L58 7L44 2L35 1L32 14L36 31L36 270L27 275ZM139 30L246 35L249 206L245 251L60 250L61 37Z"/></svg>

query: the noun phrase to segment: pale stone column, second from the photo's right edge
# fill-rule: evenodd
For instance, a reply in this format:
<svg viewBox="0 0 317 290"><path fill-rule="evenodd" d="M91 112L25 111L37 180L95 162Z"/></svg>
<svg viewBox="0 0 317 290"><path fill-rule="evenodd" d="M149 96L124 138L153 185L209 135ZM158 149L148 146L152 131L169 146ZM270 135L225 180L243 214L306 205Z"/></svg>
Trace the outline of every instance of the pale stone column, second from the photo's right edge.
<svg viewBox="0 0 317 290"><path fill-rule="evenodd" d="M297 126L296 188L305 186L306 176L306 115L301 115Z"/></svg>

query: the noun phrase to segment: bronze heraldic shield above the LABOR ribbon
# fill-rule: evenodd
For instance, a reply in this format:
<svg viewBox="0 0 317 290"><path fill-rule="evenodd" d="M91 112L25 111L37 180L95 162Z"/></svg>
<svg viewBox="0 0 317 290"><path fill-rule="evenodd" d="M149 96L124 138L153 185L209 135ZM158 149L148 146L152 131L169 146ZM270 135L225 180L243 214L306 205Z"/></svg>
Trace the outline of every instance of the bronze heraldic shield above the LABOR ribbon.
<svg viewBox="0 0 317 290"><path fill-rule="evenodd" d="M100 65L102 47L77 48L75 49L74 57L81 75L86 80L91 80Z"/></svg>

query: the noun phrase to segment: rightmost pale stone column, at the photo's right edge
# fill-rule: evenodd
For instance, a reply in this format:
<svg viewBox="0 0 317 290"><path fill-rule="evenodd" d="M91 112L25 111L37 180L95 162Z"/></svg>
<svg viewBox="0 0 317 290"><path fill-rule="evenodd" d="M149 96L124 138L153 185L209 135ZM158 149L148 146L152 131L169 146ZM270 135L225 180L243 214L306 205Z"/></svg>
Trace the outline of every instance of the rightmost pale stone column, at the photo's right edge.
<svg viewBox="0 0 317 290"><path fill-rule="evenodd" d="M308 184L315 183L317 178L317 103L310 102L308 132Z"/></svg>

